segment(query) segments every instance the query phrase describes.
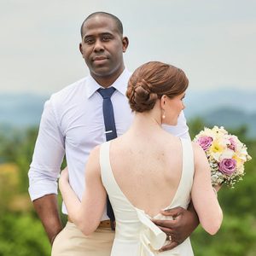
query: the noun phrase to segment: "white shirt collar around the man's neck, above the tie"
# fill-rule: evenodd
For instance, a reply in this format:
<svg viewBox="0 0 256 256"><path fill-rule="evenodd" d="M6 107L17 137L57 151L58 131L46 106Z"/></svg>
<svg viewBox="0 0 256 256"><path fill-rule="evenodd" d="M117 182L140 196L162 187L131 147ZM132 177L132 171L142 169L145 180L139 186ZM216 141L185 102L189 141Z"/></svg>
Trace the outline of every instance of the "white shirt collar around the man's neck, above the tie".
<svg viewBox="0 0 256 256"><path fill-rule="evenodd" d="M113 86L116 90L119 90L121 94L125 95L127 90L127 85L128 85L127 83L130 77L131 77L131 73L125 68L123 73L119 75L119 78L116 79L113 82L113 84L111 84L111 86ZM87 81L88 81L88 84L86 84L86 90L87 90L86 94L87 94L87 97L90 98L90 96L92 96L96 92L96 90L102 88L102 86L98 84L90 74L88 76Z"/></svg>

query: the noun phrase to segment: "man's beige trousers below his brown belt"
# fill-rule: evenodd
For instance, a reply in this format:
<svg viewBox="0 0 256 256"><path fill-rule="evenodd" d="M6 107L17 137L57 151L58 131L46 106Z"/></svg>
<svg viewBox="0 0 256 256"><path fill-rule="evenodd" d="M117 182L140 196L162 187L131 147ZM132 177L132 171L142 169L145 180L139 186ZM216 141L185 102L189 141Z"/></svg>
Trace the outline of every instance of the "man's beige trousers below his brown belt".
<svg viewBox="0 0 256 256"><path fill-rule="evenodd" d="M51 256L109 256L114 231L97 229L90 236L84 234L71 222L55 237Z"/></svg>

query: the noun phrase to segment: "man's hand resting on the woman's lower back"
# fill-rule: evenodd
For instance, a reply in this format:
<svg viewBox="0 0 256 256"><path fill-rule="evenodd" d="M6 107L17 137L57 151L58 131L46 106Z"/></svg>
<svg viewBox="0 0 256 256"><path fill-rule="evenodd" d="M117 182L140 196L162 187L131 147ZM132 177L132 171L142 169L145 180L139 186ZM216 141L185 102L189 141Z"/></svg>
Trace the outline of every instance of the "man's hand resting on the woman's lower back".
<svg viewBox="0 0 256 256"><path fill-rule="evenodd" d="M161 252L171 250L186 240L199 224L195 209L190 203L189 210L183 207L176 207L170 210L162 211L162 215L172 216L172 220L152 219L154 224L163 230L171 242L160 249Z"/></svg>

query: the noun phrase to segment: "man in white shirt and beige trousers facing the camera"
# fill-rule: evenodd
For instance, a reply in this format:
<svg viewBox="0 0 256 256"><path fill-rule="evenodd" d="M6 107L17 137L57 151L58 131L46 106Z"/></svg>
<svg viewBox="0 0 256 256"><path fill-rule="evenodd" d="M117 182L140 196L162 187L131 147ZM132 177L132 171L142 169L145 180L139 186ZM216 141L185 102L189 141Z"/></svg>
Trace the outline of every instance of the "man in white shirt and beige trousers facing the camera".
<svg viewBox="0 0 256 256"><path fill-rule="evenodd" d="M94 13L84 20L81 36L79 49L90 75L55 93L45 103L29 171L29 193L53 245L52 255L107 256L110 255L114 231L106 212L99 228L91 236L84 236L71 220L62 230L56 200L56 181L66 154L70 184L81 198L84 166L90 150L105 142L106 133L109 132L105 131L103 99L98 92L100 88L115 88L111 101L117 136L124 133L131 124L131 109L125 97L131 73L125 69L123 60L129 41L123 36L120 20L102 12ZM166 129L177 136L189 137L183 114L176 127ZM65 206L62 212L67 214ZM178 221L161 224L172 237L172 243L166 247L168 249L187 238L198 220L195 213L181 208L166 214L178 215ZM173 225L176 226L174 230Z"/></svg>

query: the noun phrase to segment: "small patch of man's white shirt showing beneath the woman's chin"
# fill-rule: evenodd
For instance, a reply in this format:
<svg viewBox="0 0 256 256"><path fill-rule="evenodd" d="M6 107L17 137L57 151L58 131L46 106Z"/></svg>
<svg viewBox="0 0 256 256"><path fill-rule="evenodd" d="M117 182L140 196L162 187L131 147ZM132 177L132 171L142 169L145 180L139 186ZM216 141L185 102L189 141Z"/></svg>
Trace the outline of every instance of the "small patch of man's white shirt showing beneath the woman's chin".
<svg viewBox="0 0 256 256"><path fill-rule="evenodd" d="M180 113L177 119L177 125L163 125L163 128L177 137L191 140L189 136L189 126L187 125L187 120L184 116L183 111Z"/></svg>

